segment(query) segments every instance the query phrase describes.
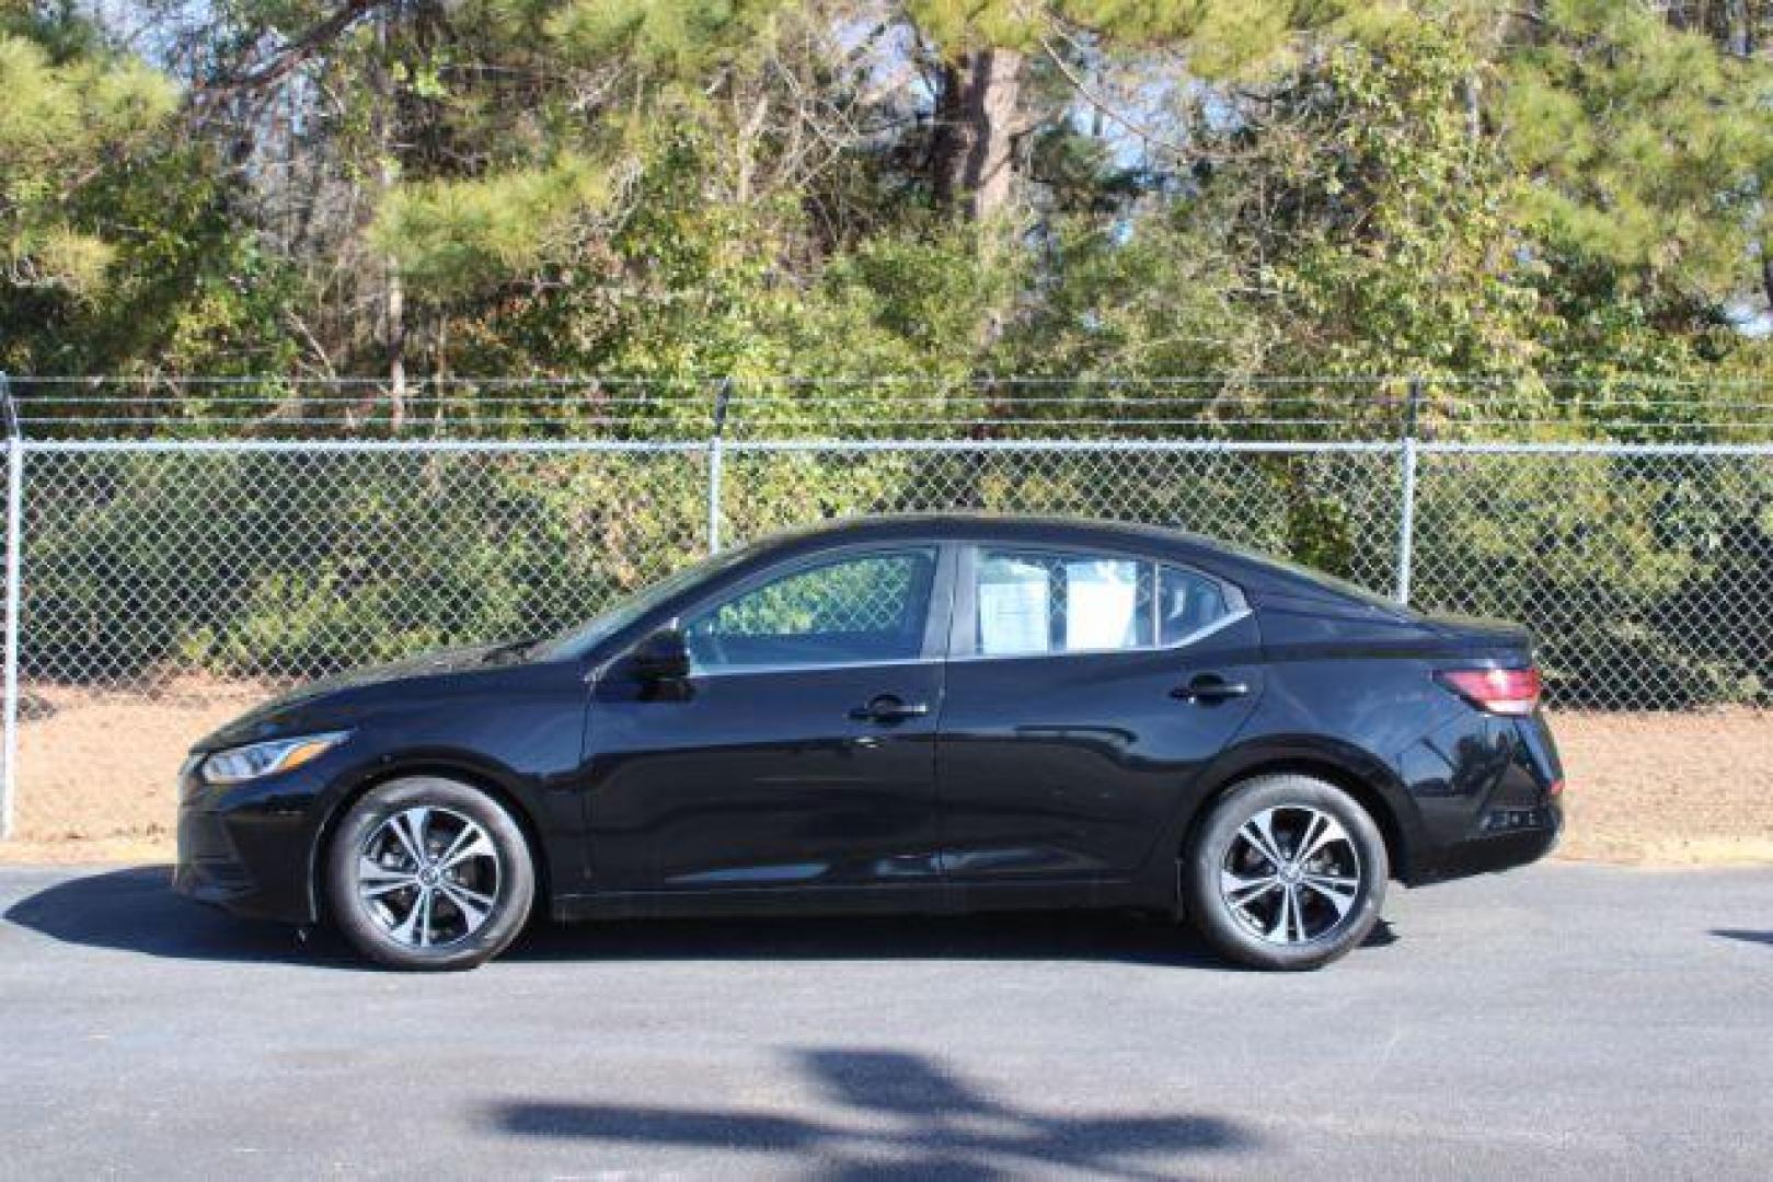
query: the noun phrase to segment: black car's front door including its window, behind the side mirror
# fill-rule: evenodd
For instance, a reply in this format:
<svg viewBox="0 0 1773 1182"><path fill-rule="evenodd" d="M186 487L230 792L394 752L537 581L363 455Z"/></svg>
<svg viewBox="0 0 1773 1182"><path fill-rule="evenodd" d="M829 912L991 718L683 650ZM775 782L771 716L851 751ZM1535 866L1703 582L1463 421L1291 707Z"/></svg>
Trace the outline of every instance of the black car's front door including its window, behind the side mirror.
<svg viewBox="0 0 1773 1182"><path fill-rule="evenodd" d="M936 546L793 560L684 613L681 684L599 680L594 890L933 884L947 581Z"/></svg>

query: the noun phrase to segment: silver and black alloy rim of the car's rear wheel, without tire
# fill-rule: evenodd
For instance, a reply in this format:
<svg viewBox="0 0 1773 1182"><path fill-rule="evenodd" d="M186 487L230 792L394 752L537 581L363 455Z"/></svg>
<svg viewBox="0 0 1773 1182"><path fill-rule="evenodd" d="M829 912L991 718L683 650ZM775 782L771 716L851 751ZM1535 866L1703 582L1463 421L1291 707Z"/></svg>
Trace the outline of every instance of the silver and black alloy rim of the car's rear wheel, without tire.
<svg viewBox="0 0 1773 1182"><path fill-rule="evenodd" d="M1220 865L1220 897L1271 945L1330 936L1360 897L1362 865L1342 822L1321 808L1284 805L1245 820Z"/></svg>

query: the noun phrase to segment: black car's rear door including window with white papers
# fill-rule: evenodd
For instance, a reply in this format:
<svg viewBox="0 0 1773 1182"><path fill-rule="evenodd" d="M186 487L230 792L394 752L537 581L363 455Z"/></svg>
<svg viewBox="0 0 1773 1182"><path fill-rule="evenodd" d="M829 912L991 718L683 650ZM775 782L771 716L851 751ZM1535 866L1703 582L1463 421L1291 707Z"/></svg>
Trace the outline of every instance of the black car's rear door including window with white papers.
<svg viewBox="0 0 1773 1182"><path fill-rule="evenodd" d="M1140 555L977 544L936 787L957 884L1126 879L1262 689L1236 588Z"/></svg>

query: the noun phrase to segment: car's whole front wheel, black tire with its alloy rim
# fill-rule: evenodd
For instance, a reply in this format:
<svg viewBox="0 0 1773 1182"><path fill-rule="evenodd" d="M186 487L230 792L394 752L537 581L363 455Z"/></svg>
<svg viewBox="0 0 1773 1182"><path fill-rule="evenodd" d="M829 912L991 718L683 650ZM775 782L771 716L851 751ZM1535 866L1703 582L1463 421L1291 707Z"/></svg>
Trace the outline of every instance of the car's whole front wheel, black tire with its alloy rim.
<svg viewBox="0 0 1773 1182"><path fill-rule="evenodd" d="M415 828L424 861L410 852ZM461 851L470 852L447 867L443 856ZM523 829L496 799L456 780L406 776L365 792L340 820L324 890L339 930L371 960L395 969L472 969L523 930L535 900L535 863ZM374 897L363 897L365 890Z"/></svg>

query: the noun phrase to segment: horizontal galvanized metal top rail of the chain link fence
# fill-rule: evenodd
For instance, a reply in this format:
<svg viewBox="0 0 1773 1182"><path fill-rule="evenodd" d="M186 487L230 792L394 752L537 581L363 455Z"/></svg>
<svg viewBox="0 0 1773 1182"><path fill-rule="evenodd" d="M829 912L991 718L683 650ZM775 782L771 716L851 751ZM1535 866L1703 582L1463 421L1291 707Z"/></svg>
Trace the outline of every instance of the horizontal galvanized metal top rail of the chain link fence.
<svg viewBox="0 0 1773 1182"><path fill-rule="evenodd" d="M1773 443L1438 443L1411 439L1418 455L1695 455L1769 457ZM20 439L25 452L48 454L248 454L248 452L706 452L709 438L684 439ZM723 439L727 454L796 452L1181 452L1181 454L1376 454L1401 439Z"/></svg>

